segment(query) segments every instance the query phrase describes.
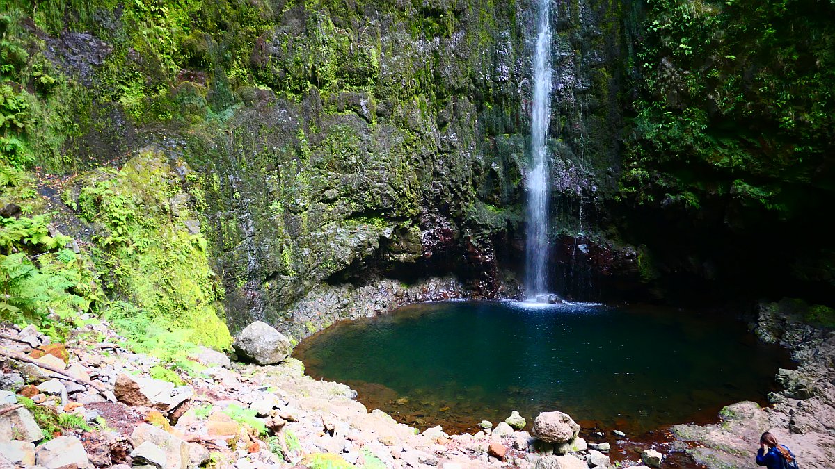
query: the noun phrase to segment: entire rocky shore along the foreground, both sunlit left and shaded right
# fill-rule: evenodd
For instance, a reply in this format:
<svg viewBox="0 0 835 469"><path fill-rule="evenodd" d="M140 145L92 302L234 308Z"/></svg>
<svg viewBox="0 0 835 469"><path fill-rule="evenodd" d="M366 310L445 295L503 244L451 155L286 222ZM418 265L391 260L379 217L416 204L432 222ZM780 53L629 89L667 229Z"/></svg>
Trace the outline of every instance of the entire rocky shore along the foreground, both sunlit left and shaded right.
<svg viewBox="0 0 835 469"><path fill-rule="evenodd" d="M760 306L757 335L786 346L799 363L779 371L784 389L770 396L773 406L740 402L723 409L719 423L673 426L671 444L638 451L632 444L626 459L622 451L612 455L617 465L663 467L670 453L685 452L710 468L753 468L759 435L772 431L804 467L830 467L835 334L808 325L806 314L790 301ZM65 344L32 326L0 330L0 469L579 469L608 467L609 452L619 449L602 434L585 441L561 412L540 414L530 425L514 412L505 421L483 421L472 435L448 435L440 426L419 432L368 411L348 386L306 376L288 357L290 341L263 323L235 339L236 356L251 363L200 349L177 371L124 349L106 322L85 323Z"/></svg>

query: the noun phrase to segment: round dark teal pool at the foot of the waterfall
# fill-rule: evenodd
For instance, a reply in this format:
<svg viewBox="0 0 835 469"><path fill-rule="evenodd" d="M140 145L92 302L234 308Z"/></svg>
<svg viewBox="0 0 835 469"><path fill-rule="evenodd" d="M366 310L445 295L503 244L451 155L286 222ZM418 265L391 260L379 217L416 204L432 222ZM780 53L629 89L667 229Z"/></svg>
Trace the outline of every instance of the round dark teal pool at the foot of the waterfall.
<svg viewBox="0 0 835 469"><path fill-rule="evenodd" d="M787 352L729 315L648 306L460 301L352 320L296 347L398 421L472 431L559 410L632 435L762 401Z"/></svg>

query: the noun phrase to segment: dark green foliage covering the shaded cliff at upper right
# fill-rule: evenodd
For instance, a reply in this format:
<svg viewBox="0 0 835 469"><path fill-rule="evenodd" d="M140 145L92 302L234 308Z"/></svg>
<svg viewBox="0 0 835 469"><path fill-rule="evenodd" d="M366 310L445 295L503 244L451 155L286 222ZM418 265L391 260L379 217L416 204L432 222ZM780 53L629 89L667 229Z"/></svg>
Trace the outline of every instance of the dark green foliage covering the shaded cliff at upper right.
<svg viewBox="0 0 835 469"><path fill-rule="evenodd" d="M797 212L824 188L835 118L832 3L652 0L622 193L699 209L718 194ZM831 190L831 184L829 184Z"/></svg>

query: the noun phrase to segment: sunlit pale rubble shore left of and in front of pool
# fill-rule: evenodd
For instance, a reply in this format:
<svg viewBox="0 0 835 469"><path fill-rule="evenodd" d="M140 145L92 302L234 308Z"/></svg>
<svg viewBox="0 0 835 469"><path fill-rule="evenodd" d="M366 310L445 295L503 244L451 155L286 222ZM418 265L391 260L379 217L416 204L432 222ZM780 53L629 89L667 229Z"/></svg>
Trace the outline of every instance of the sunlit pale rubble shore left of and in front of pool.
<svg viewBox="0 0 835 469"><path fill-rule="evenodd" d="M0 332L0 468L610 466L608 444L586 443L561 412L541 414L531 433L516 412L474 435L397 423L347 386L306 376L263 323L236 336L237 356L277 364L201 349L185 372L85 322L65 344L32 326Z"/></svg>

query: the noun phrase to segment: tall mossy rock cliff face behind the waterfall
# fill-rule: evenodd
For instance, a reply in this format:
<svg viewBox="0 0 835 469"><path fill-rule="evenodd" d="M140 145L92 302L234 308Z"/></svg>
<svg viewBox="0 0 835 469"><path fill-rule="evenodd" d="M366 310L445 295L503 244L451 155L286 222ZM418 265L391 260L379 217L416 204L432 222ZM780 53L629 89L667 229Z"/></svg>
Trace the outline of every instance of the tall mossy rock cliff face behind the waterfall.
<svg viewBox="0 0 835 469"><path fill-rule="evenodd" d="M19 143L4 165L99 174L154 154L152 166L187 167L171 209L199 214L189 230L208 240L210 296L233 329L264 319L308 334L340 317L326 300L311 310L316 292L347 285L430 298L438 281L426 280L454 275L442 282L453 295L514 295L534 8L11 3L3 76L28 113L4 134ZM623 13L555 8L551 166L568 209L554 236L582 232L581 214L615 187ZM68 199L73 230L84 214ZM143 204L132 209L139 219Z"/></svg>

